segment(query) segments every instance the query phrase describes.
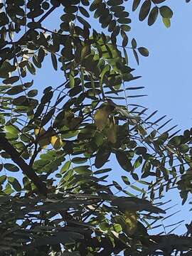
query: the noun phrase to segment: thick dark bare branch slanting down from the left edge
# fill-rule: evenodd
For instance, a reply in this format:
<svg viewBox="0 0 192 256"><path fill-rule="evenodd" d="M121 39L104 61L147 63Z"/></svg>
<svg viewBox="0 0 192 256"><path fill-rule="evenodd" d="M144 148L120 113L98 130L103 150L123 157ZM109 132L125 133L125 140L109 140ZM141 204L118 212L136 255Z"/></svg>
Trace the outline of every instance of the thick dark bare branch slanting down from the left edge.
<svg viewBox="0 0 192 256"><path fill-rule="evenodd" d="M11 160L14 161L15 164L17 164L21 170L23 171L23 174L25 174L28 178L33 181L33 183L38 188L38 191L46 196L48 193L48 189L46 188L46 184L43 183L43 181L40 180L40 178L37 176L37 174L31 169L28 164L23 160L23 158L20 156L18 151L14 149L14 146L12 146L9 141L6 139L3 133L0 133L0 144L1 148L6 151L7 154L11 156Z"/></svg>

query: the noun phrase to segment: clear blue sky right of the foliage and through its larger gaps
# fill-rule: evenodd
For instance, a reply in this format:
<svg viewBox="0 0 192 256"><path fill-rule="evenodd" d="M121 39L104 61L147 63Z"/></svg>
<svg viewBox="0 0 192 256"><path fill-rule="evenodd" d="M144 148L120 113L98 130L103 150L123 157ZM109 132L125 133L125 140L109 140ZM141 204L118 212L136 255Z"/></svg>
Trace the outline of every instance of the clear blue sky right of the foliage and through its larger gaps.
<svg viewBox="0 0 192 256"><path fill-rule="evenodd" d="M127 2L127 6L131 6L131 4L132 1ZM171 122L173 126L178 124L178 128L184 130L192 127L192 2L186 4L184 0L170 0L164 4L171 6L174 11L171 28L169 29L164 26L160 16L154 26L149 27L146 21L139 21L138 11L130 12L132 31L128 34L129 39L136 38L138 46L145 46L150 53L148 58L140 58L139 66L137 66L134 58L130 58L130 66L136 68L134 74L142 75L142 78L134 80L132 83L137 86L144 86L145 89L142 94L148 95L148 97L139 98L139 100L134 99L134 103L137 102L148 107L151 112L159 110L159 115L156 117L166 114L168 119L174 119ZM129 11L130 7L127 9ZM53 18L57 22L58 15L55 16L54 14ZM55 22L53 24L46 23L46 26L48 28L53 26L54 28ZM94 26L97 27L97 22L94 23ZM131 55L132 53L130 53ZM49 61L50 59L46 61L46 66L43 70L38 71L38 75L34 79L35 86L38 89L49 85L55 87L64 80L61 73L53 70L50 63L48 63ZM41 75L39 76L39 74ZM114 166L114 169L116 167ZM119 172L116 173L117 177L114 176L113 178L119 180ZM126 175L126 173L121 173L121 175ZM178 203L178 206L173 210L169 210L169 214L181 208L178 193L171 192L166 196L167 198L173 199L171 205ZM188 206L181 208L181 213L178 213L174 220L169 219L167 223L170 224L170 220L171 223L176 223L182 218L186 220L186 223L191 221L191 218L188 219L188 210L186 209L188 209ZM177 230L178 233L185 231L184 225Z"/></svg>

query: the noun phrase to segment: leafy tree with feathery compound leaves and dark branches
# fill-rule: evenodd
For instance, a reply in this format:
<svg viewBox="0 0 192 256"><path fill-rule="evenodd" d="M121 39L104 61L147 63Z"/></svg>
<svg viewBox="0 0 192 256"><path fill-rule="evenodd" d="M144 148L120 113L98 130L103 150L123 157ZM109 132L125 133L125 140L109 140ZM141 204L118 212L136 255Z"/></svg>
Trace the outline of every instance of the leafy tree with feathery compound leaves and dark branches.
<svg viewBox="0 0 192 256"><path fill-rule="evenodd" d="M149 26L159 17L169 27L165 1L134 0L132 11ZM140 88L129 86L139 77L127 48L138 64L138 53L149 52L134 38L128 44L128 4L0 4L0 255L191 255L190 224L183 236L149 235L165 213L156 203L164 189L177 186L183 203L191 193L192 129L160 132L169 120L158 127L164 117L154 121L156 112L146 117L146 107L129 105L127 91ZM60 28L45 28L60 11ZM63 83L38 95L31 75L46 58ZM125 187L108 178L114 159Z"/></svg>

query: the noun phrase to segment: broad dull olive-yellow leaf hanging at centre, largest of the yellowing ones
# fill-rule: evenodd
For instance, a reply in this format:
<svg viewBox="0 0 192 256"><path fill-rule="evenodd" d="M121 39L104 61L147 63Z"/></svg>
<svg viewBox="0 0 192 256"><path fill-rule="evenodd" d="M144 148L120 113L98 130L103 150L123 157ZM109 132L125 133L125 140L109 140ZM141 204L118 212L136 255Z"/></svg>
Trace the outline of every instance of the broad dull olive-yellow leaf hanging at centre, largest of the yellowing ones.
<svg viewBox="0 0 192 256"><path fill-rule="evenodd" d="M95 113L95 125L98 130L102 131L107 123L109 122L109 115L111 114L112 110L114 109L111 105L106 105L102 107L100 110L97 110Z"/></svg>

